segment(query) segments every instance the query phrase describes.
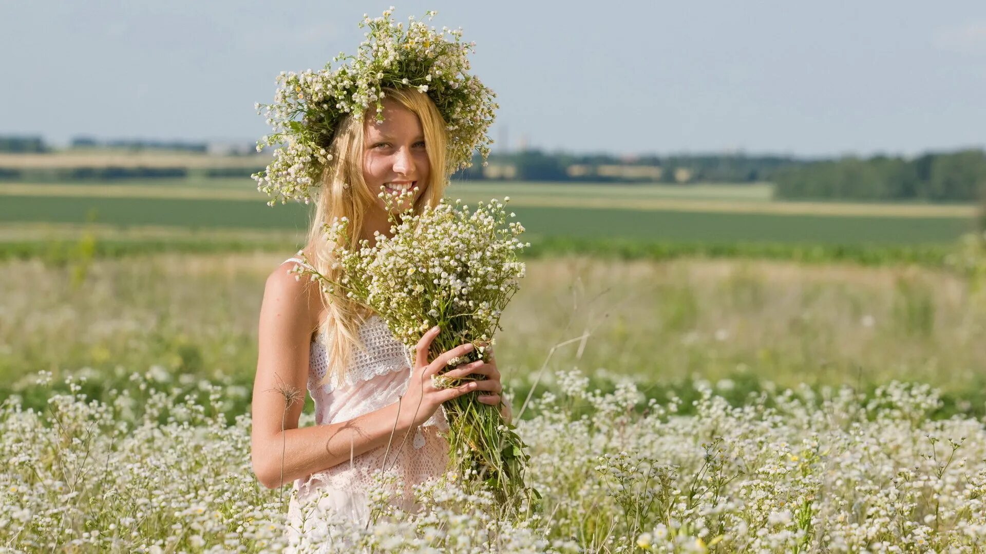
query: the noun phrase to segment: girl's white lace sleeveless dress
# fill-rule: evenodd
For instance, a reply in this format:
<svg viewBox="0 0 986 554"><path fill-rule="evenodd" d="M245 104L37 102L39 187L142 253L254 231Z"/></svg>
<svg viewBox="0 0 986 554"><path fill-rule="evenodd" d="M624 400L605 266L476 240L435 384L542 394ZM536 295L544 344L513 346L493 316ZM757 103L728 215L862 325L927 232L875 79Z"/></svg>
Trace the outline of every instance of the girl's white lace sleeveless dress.
<svg viewBox="0 0 986 554"><path fill-rule="evenodd" d="M303 263L298 258L285 261ZM360 338L366 350L353 352L345 379L336 374L329 376L325 384L318 384L327 367L325 337L319 334L312 342L308 390L315 401L317 425L343 422L381 409L396 402L407 388L412 366L409 352L379 315L364 322ZM394 433L388 451L385 445L295 481L288 509L289 537L297 539L295 533L306 533L328 519L365 523L369 519L367 488L373 482L373 474L385 463L404 481L403 497L395 504L413 510L411 487L446 469L449 445L439 432L448 429L445 410L439 407L427 422L410 433Z"/></svg>

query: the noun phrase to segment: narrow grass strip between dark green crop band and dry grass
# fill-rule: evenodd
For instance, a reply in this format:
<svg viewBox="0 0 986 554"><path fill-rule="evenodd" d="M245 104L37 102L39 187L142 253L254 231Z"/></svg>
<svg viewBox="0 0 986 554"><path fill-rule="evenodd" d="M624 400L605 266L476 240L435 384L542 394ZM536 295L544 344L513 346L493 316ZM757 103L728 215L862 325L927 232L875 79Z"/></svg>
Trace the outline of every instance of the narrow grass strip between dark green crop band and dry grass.
<svg viewBox="0 0 986 554"><path fill-rule="evenodd" d="M171 227L121 229L106 225L0 226L0 260L44 260L54 265L85 263L90 258L144 257L149 254L284 252L301 247L304 237L291 232L249 229L194 231ZM599 259L670 260L775 259L800 263L853 263L867 266L920 265L948 267L957 251L951 243L928 244L802 244L790 242L695 242L530 238L525 259L589 255Z"/></svg>

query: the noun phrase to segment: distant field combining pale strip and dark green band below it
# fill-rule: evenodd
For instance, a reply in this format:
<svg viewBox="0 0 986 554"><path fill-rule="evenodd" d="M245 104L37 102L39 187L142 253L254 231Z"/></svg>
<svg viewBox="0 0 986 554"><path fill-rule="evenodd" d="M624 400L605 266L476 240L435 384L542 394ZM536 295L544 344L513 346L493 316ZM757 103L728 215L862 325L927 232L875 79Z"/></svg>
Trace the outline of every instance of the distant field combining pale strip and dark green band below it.
<svg viewBox="0 0 986 554"><path fill-rule="evenodd" d="M303 232L308 207L266 206L243 179L0 184L0 224L86 223ZM234 184L236 183L236 184ZM540 237L647 242L914 244L952 242L973 229L971 206L774 202L769 185L456 183L467 202L510 195Z"/></svg>

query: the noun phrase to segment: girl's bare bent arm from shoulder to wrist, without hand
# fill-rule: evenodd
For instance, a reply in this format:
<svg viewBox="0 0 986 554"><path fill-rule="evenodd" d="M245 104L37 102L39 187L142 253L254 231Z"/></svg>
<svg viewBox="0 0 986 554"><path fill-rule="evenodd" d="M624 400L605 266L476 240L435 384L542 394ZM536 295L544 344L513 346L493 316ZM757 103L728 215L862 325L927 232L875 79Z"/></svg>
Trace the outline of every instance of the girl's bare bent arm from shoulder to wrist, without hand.
<svg viewBox="0 0 986 554"><path fill-rule="evenodd" d="M267 278L260 308L250 448L253 473L267 488L387 445L391 433L399 443L414 422L415 406L394 402L349 421L298 428L321 300L316 284L287 274L290 266Z"/></svg>

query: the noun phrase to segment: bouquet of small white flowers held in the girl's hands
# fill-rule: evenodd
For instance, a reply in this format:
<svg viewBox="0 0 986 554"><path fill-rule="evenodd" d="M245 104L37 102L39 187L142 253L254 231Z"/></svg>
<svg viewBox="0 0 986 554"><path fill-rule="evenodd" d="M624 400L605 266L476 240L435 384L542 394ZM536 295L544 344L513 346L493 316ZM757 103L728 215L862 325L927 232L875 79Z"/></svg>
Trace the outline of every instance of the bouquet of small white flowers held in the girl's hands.
<svg viewBox="0 0 986 554"><path fill-rule="evenodd" d="M382 192L381 197L386 197L389 208L401 205L405 194L387 197ZM343 218L324 229L326 240L336 244L342 267L339 281L305 271L312 272L328 293L377 312L409 347L439 325L441 332L432 342L429 359L472 343L475 348L465 359L450 363L452 369L487 359L500 315L524 277L525 264L518 261L517 253L530 244L518 239L524 226L508 223L508 217L514 214L508 216L496 199L479 202L473 212L460 200L443 200L420 214L411 209L391 213L393 237L377 234L376 243L364 240L355 250L346 247L351 230ZM457 384L441 376L438 381L440 386ZM516 428L503 420L499 406L481 403L476 395L469 392L443 405L450 427L446 437L450 470L485 483L505 505L536 508L540 497L524 483L526 445Z"/></svg>

